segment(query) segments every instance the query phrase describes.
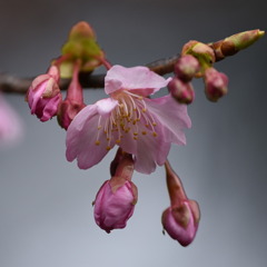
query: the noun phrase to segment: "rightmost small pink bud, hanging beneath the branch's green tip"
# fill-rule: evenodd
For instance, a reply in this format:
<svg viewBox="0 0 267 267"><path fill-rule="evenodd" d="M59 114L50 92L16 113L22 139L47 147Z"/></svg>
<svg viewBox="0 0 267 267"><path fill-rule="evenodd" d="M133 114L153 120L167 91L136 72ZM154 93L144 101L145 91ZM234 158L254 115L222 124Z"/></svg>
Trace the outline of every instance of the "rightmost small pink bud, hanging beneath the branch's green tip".
<svg viewBox="0 0 267 267"><path fill-rule="evenodd" d="M212 102L216 102L228 91L227 76L222 72L218 72L214 68L209 68L205 71L204 81L206 97Z"/></svg>

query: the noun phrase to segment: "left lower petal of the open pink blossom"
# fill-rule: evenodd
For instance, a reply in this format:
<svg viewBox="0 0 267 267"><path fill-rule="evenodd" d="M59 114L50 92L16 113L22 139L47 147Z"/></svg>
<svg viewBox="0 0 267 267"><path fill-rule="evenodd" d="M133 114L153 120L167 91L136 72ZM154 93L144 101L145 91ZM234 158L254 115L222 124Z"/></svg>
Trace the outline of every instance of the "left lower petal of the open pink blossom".
<svg viewBox="0 0 267 267"><path fill-rule="evenodd" d="M100 102L101 101L101 102ZM100 115L107 116L111 112L111 106L109 99L102 99L95 105L83 108L72 120L67 130L67 151L66 157L69 161L77 158L78 166L81 169L88 169L98 164L108 152L107 147L112 148L115 140L107 140L107 136L103 131L103 127L98 129ZM102 103L102 109L99 107ZM110 107L107 109L107 107ZM112 106L113 108L116 106ZM105 125L105 120L101 120L101 125ZM97 140L99 145L97 145Z"/></svg>

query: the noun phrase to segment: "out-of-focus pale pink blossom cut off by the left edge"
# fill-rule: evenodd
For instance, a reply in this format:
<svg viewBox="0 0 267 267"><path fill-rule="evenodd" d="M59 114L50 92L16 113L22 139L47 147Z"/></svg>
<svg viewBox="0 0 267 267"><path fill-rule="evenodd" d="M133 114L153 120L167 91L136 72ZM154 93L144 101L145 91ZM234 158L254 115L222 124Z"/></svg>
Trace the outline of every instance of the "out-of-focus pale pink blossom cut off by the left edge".
<svg viewBox="0 0 267 267"><path fill-rule="evenodd" d="M0 147L18 142L22 137L22 123L0 92Z"/></svg>

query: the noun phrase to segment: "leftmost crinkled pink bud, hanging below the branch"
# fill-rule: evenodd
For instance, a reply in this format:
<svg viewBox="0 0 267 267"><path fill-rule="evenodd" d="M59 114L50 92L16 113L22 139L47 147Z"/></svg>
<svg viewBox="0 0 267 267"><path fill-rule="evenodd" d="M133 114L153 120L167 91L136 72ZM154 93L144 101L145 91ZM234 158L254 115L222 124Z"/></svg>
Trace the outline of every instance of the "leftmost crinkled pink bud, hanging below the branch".
<svg viewBox="0 0 267 267"><path fill-rule="evenodd" d="M38 76L28 90L27 101L31 113L41 121L51 119L58 111L62 99L58 81L59 70L52 66L46 75Z"/></svg>

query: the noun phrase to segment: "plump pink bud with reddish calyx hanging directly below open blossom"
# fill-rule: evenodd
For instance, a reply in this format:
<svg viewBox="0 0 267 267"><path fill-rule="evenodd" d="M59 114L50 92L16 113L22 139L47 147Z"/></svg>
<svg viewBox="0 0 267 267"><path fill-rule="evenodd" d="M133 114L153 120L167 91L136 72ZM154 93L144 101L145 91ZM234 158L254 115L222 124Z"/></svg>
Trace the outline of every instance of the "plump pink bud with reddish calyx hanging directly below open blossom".
<svg viewBox="0 0 267 267"><path fill-rule="evenodd" d="M134 160L130 155L122 155L115 176L105 181L95 200L95 220L97 225L110 233L125 228L132 216L138 198L138 190L130 180L134 172Z"/></svg>

